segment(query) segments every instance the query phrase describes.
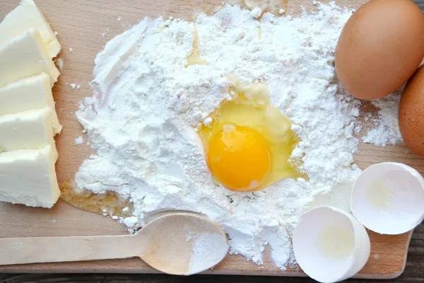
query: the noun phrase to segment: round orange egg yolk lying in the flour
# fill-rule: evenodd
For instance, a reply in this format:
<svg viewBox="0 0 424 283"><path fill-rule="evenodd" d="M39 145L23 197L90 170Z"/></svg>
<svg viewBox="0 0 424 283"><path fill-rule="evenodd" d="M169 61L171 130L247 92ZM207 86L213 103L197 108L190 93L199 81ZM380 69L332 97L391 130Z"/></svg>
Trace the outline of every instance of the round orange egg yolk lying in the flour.
<svg viewBox="0 0 424 283"><path fill-rule="evenodd" d="M249 191L261 187L271 169L266 139L246 126L224 125L209 142L207 155L213 176L232 190Z"/></svg>

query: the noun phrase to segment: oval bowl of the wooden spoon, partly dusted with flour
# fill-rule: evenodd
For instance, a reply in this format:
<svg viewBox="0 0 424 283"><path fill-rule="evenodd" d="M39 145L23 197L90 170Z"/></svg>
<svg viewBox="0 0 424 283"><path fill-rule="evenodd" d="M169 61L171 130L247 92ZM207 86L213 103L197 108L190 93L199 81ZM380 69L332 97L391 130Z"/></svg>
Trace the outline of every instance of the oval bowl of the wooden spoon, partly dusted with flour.
<svg viewBox="0 0 424 283"><path fill-rule="evenodd" d="M172 275L193 275L225 258L228 239L223 229L203 217L180 212L160 216L134 235L143 243L139 257Z"/></svg>

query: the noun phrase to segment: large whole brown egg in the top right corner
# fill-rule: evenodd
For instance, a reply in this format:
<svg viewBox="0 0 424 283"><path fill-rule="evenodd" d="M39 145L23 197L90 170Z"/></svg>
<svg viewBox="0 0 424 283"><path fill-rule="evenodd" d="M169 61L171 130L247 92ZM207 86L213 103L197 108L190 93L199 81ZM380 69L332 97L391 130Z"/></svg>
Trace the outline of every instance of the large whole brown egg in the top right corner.
<svg viewBox="0 0 424 283"><path fill-rule="evenodd" d="M402 86L424 56L424 15L410 0L372 0L344 26L336 48L342 86L372 100Z"/></svg>

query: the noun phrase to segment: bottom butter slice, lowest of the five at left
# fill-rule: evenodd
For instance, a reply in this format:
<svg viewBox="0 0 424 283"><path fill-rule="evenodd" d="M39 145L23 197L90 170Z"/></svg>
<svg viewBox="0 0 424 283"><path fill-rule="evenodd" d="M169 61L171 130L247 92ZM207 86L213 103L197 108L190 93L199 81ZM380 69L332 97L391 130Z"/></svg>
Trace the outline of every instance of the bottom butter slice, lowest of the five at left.
<svg viewBox="0 0 424 283"><path fill-rule="evenodd" d="M0 154L0 201L52 207L60 196L51 146Z"/></svg>

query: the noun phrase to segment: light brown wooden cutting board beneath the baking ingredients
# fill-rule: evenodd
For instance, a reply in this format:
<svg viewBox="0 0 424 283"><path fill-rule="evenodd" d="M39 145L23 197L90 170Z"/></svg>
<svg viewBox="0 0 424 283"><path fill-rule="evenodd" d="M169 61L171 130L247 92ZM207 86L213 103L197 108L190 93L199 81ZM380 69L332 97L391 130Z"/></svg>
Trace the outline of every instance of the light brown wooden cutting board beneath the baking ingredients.
<svg viewBox="0 0 424 283"><path fill-rule="evenodd" d="M105 42L114 35L122 33L145 16L191 19L200 11L213 11L222 0L36 0L47 21L56 30L63 48L59 57L64 60L59 81L55 84L54 99L57 113L64 129L57 137L59 161L57 176L59 183L72 180L78 167L85 158L93 154L88 146L77 146L74 140L82 133L81 125L76 122L74 112L78 103L91 96L88 83L93 79L95 55L102 50ZM358 8L366 0L337 1L339 5L351 5ZM1 0L0 19L19 3L18 0ZM285 11L298 14L304 5L311 11L316 6L312 0L281 0ZM72 50L72 52L71 52ZM73 90L69 85L81 84L81 89ZM365 105L369 111L374 111ZM424 158L421 158L405 146L377 147L360 144L355 161L360 168L373 163L396 161L413 166L424 173ZM118 221L91 212L84 212L59 200L52 209L37 209L23 205L0 203L0 237L21 236L95 236L119 235L126 233ZM393 278L401 274L406 262L411 233L399 236L382 236L370 232L372 241L370 260L356 277ZM64 262L35 265L16 265L0 267L0 272L131 272L154 273L139 259L99 260L93 262ZM293 267L281 271L269 256L265 254L264 267L247 262L240 256L228 256L213 270L206 273L227 275L280 275L304 276Z"/></svg>

